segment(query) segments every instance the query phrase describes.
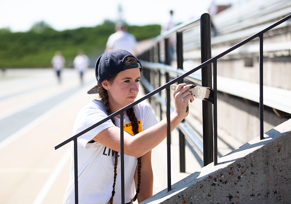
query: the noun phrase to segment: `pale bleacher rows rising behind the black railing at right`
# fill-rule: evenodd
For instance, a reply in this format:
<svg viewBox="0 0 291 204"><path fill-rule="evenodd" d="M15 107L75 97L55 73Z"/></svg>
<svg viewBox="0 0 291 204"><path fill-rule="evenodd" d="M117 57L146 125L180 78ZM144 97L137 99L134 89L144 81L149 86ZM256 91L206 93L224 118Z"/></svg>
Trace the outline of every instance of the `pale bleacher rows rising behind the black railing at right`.
<svg viewBox="0 0 291 204"><path fill-rule="evenodd" d="M228 50L233 45L258 33L290 14L290 0L243 1L243 3L221 11L212 19L217 29L217 35L211 39L212 57ZM199 34L199 32L198 29L188 31L183 39L184 60L191 59L196 61L196 64L200 63L201 53L200 39L196 39L194 36L198 36L197 34ZM291 104L289 103L291 100L291 83L286 81L287 77L285 77L285 75L290 73L288 71L288 67L290 69L291 64L290 33L291 20L288 20L265 33L263 38L264 57L269 58L269 61L272 61L275 57L289 57L289 64L288 59L285 59L285 61L287 61L284 62L286 65L285 69L277 69L278 62L276 60L274 60L273 64L268 64L269 67L273 67L273 71L264 73L265 76L268 75L268 77L264 76L265 79L271 79L264 81L264 104L273 108L275 112L276 110L281 110L289 114L291 113ZM238 96L246 100L259 102L258 72L255 73L255 77L247 77L248 74L243 73L246 71L246 67L243 63L246 58L253 59L255 61L255 66L252 68L253 70L258 70L258 56L259 41L258 38L256 38L219 59L223 61L223 66L221 66L218 61L218 75L220 75L217 78L218 91ZM241 67L236 67L237 65ZM280 66L282 67L282 64ZM268 69L268 71L270 71L270 69ZM240 76L239 73L243 74ZM249 72L249 74L251 73L252 72ZM256 79L253 80L254 78ZM273 86L275 83L272 84L272 80L282 80L281 85ZM279 83L277 82L277 84Z"/></svg>

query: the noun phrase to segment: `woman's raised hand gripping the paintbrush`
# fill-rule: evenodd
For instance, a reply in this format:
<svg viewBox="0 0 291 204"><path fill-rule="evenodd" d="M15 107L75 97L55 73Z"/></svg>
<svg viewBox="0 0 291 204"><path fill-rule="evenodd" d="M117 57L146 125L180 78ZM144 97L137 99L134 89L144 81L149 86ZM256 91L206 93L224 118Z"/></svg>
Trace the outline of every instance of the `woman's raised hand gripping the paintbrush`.
<svg viewBox="0 0 291 204"><path fill-rule="evenodd" d="M194 96L188 91L192 85L179 84L173 94L175 101L175 111L183 119L189 113L189 101L194 101Z"/></svg>

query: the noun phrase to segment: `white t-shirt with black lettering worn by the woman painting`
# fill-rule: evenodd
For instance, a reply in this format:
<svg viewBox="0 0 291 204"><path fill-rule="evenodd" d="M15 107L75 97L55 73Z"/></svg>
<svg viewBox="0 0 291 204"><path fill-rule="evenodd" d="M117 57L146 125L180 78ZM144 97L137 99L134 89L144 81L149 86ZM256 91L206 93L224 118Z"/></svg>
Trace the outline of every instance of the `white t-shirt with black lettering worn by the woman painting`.
<svg viewBox="0 0 291 204"><path fill-rule="evenodd" d="M134 106L134 112L139 124L139 132L157 124L157 119L150 105L141 102ZM96 100L91 101L77 115L73 135L96 124L107 117L104 105ZM115 117L116 126L120 127L120 119ZM88 131L77 139L78 143L78 197L79 204L105 204L109 201L112 192L114 175L114 151L100 143L88 143L102 130L114 126L111 120ZM124 115L124 130L131 128L128 116ZM142 128L142 129L141 129ZM129 130L128 130L129 131ZM74 148L71 143L70 181L64 196L63 203L73 204L74 198ZM119 155L119 153L118 153ZM135 195L134 173L137 159L124 155L125 172L125 203ZM113 204L121 203L121 173L120 157L118 157L117 177Z"/></svg>

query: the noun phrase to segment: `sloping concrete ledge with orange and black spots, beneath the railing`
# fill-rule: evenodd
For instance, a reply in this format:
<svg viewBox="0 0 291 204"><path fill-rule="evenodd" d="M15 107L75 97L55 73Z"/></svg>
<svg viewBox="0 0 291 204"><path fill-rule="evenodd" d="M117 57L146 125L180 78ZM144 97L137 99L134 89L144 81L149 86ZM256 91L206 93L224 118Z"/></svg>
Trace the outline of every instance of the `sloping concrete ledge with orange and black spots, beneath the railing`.
<svg viewBox="0 0 291 204"><path fill-rule="evenodd" d="M290 203L291 119L145 203Z"/></svg>

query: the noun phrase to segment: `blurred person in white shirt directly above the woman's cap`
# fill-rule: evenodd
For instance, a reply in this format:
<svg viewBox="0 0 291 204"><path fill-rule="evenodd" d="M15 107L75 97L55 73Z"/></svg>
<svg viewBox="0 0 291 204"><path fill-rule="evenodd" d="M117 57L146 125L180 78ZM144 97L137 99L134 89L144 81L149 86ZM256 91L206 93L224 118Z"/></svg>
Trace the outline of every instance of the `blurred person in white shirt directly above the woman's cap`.
<svg viewBox="0 0 291 204"><path fill-rule="evenodd" d="M127 32L127 27L124 22L117 22L115 25L115 33L111 34L106 43L106 49L123 49L133 55L136 54L137 41L134 35Z"/></svg>

